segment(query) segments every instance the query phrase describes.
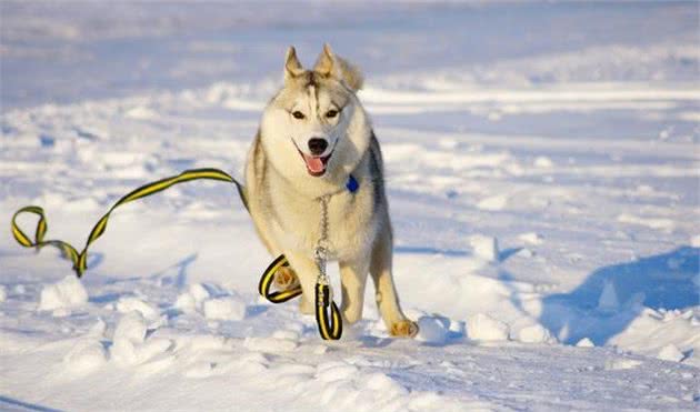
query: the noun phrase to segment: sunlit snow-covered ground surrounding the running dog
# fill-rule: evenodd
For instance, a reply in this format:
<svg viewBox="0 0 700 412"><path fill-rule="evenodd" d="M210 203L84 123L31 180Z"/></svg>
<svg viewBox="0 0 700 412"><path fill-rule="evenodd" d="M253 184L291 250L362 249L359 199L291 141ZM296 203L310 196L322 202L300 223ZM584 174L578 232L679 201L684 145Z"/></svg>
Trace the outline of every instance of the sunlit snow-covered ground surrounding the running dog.
<svg viewBox="0 0 700 412"><path fill-rule="evenodd" d="M236 190L120 209L89 271L0 237L3 410L700 408L698 9L1 2L0 217L82 245L240 177L284 49L364 68L417 340L256 292ZM34 221L22 219L26 231ZM337 287L337 273L332 272Z"/></svg>

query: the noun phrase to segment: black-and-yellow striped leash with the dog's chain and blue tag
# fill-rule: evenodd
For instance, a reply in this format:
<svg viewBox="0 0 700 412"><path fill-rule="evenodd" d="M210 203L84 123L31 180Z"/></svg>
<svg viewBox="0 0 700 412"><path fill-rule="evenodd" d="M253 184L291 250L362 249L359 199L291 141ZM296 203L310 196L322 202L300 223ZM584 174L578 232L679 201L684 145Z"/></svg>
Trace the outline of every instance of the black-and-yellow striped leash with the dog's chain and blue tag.
<svg viewBox="0 0 700 412"><path fill-rule="evenodd" d="M109 221L109 217L112 213L112 211L114 211L114 209L117 209L118 207L122 204L132 202L134 200L161 192L174 184L189 182L191 180L200 180L200 179L224 181L224 182L236 184L238 194L240 195L241 201L243 202L243 205L246 207L246 209L248 209L248 202L246 200L243 187L241 185L240 182L238 182L236 179L230 177L228 173L219 169L212 169L212 168L191 169L191 170L186 170L178 175L161 179L161 180L144 184L138 189L132 190L131 192L127 193L121 199L119 199L119 201L117 201L117 203L114 203L109 209L109 211L104 213L104 215L92 228L92 231L90 231L90 235L88 237L88 240L86 241L86 245L81 252L78 252L78 250L73 245L62 240L44 240L44 237L48 230L48 223L47 223L46 215L43 213L43 209L38 205L28 205L28 207L21 208L12 215L12 222L11 222L12 235L14 237L17 242L24 248L37 248L37 250L40 250L41 248L46 245L52 245L52 247L58 248L61 251L63 258L69 259L73 263L73 270L76 271L76 274L78 275L78 278L81 278L84 271L88 269L88 264L87 264L88 249L96 240L98 240L102 235L102 233L104 233L104 230L107 229L107 223ZM358 189L358 182L357 180L354 180L352 175L348 180L347 188L350 192L356 192ZM337 340L337 339L340 339L342 334L342 319L340 316L340 311L338 310L336 302L333 302L331 299L331 289L328 282L328 275L326 274L326 261L327 261L328 249L324 249L324 247L327 247L326 244L321 245L321 242L328 242L328 210L327 210L328 197L321 198L320 202L321 202L321 209L322 209L321 239L319 240L319 243L317 244L317 249L314 251L314 258L316 258L317 264L319 264L319 277L317 279L317 284L316 284L316 305L317 305L316 321L319 326L319 333L321 334L321 338L326 340L329 340L329 339ZM17 224L17 217L19 217L22 213L33 213L39 217L39 221L37 222L37 229L34 230L33 241ZM274 274L280 268L287 267L287 265L289 265L289 262L287 261L287 258L283 254L281 254L268 267L268 269L266 269L266 271L262 274L262 278L260 279L258 291L260 292L261 295L263 295L266 299L268 299L272 303L287 302L288 300L297 298L298 295L301 294L300 287L293 288L291 290L286 290L286 291L270 292L272 278L274 277ZM327 308L329 305L331 307L330 321L328 319L328 312L327 312Z"/></svg>

